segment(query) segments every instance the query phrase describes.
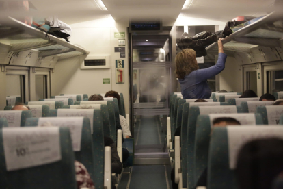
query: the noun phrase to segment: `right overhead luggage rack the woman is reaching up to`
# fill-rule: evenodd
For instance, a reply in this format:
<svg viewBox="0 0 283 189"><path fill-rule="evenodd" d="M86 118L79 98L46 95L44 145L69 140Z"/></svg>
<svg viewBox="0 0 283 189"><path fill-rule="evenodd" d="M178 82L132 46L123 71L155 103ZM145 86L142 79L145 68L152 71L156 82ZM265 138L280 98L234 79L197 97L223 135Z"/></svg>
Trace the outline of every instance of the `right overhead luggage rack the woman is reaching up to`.
<svg viewBox="0 0 283 189"><path fill-rule="evenodd" d="M282 44L280 44L282 38L283 12L272 12L230 34L222 40L222 43L226 51L252 53L251 49L258 46L282 48ZM214 51L215 49L217 49L217 42L206 47L206 51Z"/></svg>

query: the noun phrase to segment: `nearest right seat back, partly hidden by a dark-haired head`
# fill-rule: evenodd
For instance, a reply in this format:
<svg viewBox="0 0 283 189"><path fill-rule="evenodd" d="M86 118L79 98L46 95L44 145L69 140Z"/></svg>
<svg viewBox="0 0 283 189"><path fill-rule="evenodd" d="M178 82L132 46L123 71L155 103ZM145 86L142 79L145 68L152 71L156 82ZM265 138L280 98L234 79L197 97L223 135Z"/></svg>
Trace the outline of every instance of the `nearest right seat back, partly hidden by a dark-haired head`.
<svg viewBox="0 0 283 189"><path fill-rule="evenodd" d="M283 139L283 127L273 125L215 127L209 146L208 188L238 189L234 168L239 150L246 142L266 136Z"/></svg>

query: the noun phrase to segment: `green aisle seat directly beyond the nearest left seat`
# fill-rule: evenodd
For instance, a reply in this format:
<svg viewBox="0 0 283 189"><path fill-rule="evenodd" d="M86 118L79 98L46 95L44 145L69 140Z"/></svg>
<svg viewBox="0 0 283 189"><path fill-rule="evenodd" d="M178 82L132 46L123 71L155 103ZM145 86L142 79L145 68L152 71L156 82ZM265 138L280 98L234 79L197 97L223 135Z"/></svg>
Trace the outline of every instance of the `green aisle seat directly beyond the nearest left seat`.
<svg viewBox="0 0 283 189"><path fill-rule="evenodd" d="M92 134L90 131L90 119L83 117L70 117L70 118L59 118L59 117L49 117L49 118L27 118L25 127L35 127L38 123L49 122L54 126L68 127L73 129L74 127L81 127L81 146L80 149L76 149L77 143L73 143L73 150L75 152L75 159L81 162L87 172L90 173L90 177L94 180L94 147L92 143ZM71 122L71 123L70 123ZM76 125L75 125L76 123ZM77 131L77 130L76 130ZM72 138L72 133L71 133ZM74 139L72 138L72 141Z"/></svg>

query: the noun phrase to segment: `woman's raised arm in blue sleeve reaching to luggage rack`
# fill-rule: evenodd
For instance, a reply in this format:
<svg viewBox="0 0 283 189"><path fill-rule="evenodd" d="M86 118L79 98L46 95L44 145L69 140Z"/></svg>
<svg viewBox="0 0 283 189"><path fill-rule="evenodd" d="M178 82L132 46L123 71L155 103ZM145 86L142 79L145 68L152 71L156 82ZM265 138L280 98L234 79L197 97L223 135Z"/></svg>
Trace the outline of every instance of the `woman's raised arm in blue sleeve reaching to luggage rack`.
<svg viewBox="0 0 283 189"><path fill-rule="evenodd" d="M218 53L219 53L219 55L218 55L217 63L215 64L215 66L211 66L211 67L205 68L205 69L199 69L196 73L196 77L198 79L200 79L202 81L209 79L209 78L217 75L218 73L220 73L221 71L224 70L227 55L224 54L223 45L222 45L221 40L222 40L222 38L219 38L219 40L218 40Z"/></svg>

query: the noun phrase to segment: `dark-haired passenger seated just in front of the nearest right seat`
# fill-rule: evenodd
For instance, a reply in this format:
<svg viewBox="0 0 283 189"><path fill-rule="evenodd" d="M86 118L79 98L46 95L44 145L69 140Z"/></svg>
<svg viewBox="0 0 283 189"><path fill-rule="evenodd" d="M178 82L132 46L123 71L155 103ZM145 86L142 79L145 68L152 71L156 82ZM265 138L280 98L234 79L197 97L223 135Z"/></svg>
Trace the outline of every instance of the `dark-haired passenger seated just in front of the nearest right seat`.
<svg viewBox="0 0 283 189"><path fill-rule="evenodd" d="M227 125L241 125L241 123L239 123L239 121L236 119L229 117L215 118L213 120L213 127L226 127ZM211 133L213 132L213 127L211 129ZM200 175L200 178L198 179L196 188L198 186L207 186L207 167L204 169L204 172L202 172L202 175Z"/></svg>

